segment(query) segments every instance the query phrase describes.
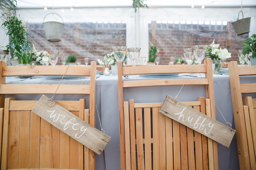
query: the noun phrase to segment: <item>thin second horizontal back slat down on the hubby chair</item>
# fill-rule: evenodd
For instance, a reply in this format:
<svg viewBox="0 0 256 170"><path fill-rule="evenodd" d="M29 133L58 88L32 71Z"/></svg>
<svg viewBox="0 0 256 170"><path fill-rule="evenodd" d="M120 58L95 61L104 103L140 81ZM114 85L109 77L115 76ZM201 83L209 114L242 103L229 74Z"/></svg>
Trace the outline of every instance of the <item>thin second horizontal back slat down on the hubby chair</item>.
<svg viewBox="0 0 256 170"><path fill-rule="evenodd" d="M160 79L157 81L135 80L135 81L124 81L123 88L151 87L151 86L182 86L183 84L184 85L208 85L209 82L208 82L208 79Z"/></svg>

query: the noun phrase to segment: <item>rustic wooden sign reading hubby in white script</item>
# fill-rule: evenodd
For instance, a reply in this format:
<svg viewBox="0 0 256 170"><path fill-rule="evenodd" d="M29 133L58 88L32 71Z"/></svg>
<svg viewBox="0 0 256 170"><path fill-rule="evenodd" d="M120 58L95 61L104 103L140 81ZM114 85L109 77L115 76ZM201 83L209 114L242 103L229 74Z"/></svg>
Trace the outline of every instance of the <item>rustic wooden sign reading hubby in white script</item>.
<svg viewBox="0 0 256 170"><path fill-rule="evenodd" d="M229 147L235 134L235 130L229 126L168 95L159 112L226 147Z"/></svg>

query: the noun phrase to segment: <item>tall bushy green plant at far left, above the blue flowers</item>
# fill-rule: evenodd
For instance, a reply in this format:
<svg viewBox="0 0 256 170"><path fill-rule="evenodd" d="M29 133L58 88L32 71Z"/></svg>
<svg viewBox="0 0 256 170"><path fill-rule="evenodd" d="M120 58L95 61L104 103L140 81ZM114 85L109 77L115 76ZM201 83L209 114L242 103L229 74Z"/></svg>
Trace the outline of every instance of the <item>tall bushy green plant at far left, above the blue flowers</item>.
<svg viewBox="0 0 256 170"><path fill-rule="evenodd" d="M15 13L16 8L14 7L14 2L17 5L16 0L11 0L11 6L6 6L6 10L3 14L3 23L1 28L5 31L6 35L8 35L9 38L11 39L11 43L6 45L7 50L10 50L12 46L15 46L12 58L19 58L21 57L19 56L19 52L21 52L22 50L22 44L27 39L27 25L23 20L18 19ZM26 42L31 43L29 41Z"/></svg>

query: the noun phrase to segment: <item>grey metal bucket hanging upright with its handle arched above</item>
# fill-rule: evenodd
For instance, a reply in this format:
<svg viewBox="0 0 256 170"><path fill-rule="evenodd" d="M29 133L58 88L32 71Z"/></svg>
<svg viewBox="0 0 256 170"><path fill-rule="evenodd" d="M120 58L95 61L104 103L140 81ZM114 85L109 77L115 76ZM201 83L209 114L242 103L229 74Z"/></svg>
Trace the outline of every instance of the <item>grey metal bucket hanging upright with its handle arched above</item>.
<svg viewBox="0 0 256 170"><path fill-rule="evenodd" d="M49 14L56 14L56 13L49 13ZM45 17L49 14L46 14ZM56 14L56 15L59 15L59 14ZM63 27L64 27L63 19L61 18L62 23L53 22L53 21L45 22L45 17L43 18L43 28L45 29L47 40L51 42L61 41ZM59 17L61 16L59 15Z"/></svg>

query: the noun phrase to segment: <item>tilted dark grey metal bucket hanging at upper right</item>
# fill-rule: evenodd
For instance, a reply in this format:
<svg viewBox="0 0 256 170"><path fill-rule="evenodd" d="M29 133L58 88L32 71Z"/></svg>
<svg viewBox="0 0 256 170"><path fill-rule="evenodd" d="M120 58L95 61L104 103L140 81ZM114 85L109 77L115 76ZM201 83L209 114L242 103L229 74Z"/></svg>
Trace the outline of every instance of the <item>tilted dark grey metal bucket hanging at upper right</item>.
<svg viewBox="0 0 256 170"><path fill-rule="evenodd" d="M250 32L251 17L239 19L240 12L242 12L242 15L243 15L243 11L242 10L239 11L237 21L232 23L237 35L242 35Z"/></svg>

